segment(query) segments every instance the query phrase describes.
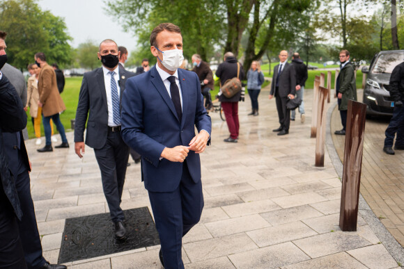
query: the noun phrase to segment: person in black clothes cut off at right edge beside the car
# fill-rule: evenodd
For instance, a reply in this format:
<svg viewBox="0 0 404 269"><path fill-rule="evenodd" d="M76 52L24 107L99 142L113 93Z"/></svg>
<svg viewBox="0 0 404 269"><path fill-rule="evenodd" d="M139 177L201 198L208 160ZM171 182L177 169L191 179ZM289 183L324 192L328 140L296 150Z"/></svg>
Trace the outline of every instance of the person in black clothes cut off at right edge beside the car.
<svg viewBox="0 0 404 269"><path fill-rule="evenodd" d="M396 136L394 149L404 149L404 62L394 67L393 72L391 72L389 92L391 99L394 100L394 111L385 131L386 138L384 139L383 151L394 155L394 136Z"/></svg>

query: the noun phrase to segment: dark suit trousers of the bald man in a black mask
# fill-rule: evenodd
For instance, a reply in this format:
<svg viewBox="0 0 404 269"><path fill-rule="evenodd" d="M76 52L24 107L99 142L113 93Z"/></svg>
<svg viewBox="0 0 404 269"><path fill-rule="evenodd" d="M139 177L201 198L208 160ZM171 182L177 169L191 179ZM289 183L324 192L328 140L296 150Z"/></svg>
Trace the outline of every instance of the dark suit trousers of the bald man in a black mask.
<svg viewBox="0 0 404 269"><path fill-rule="evenodd" d="M120 131L108 131L107 142L101 149L94 149L101 171L102 189L107 199L112 222L125 220L121 209L121 197L129 147L123 142Z"/></svg>

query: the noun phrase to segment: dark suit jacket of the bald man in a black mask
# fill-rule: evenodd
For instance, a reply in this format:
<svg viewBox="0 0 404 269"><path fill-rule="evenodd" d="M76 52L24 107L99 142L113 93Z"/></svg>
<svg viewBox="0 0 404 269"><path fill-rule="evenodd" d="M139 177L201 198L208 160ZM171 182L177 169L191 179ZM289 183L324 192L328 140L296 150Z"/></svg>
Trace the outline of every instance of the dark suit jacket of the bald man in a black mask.
<svg viewBox="0 0 404 269"><path fill-rule="evenodd" d="M134 76L134 73L119 67L121 99L125 90L125 82L131 76ZM76 112L75 142L84 141L87 117L86 145L94 149L101 149L107 142L108 134L107 92L105 92L102 68L84 74Z"/></svg>

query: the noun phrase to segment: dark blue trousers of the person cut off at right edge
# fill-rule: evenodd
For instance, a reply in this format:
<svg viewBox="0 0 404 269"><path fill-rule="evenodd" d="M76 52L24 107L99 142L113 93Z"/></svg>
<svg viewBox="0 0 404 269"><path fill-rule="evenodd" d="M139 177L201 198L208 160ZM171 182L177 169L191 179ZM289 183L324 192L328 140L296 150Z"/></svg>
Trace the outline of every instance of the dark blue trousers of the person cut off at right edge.
<svg viewBox="0 0 404 269"><path fill-rule="evenodd" d="M393 147L394 136L396 136L396 146L404 146L404 107L394 106L393 117L391 117L389 127L387 127L384 139L384 147Z"/></svg>

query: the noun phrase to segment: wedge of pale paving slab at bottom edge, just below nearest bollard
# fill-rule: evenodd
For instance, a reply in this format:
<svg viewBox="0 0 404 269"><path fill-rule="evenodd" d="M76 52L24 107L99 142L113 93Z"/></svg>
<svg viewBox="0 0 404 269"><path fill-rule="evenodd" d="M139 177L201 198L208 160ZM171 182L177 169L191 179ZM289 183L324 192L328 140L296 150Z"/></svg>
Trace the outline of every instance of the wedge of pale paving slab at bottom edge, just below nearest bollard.
<svg viewBox="0 0 404 269"><path fill-rule="evenodd" d="M282 269L323 269L323 268L338 268L338 269L366 269L362 263L352 258L346 252L323 256L308 261L302 261L290 266L282 267Z"/></svg>

